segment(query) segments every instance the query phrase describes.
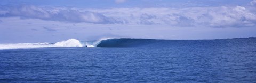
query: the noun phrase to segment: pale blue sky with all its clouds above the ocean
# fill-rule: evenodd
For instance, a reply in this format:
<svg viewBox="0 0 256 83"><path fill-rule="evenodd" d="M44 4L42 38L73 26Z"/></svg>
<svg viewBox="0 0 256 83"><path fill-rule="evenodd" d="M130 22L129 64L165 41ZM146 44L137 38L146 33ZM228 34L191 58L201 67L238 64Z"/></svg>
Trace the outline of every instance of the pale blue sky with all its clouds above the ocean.
<svg viewBox="0 0 256 83"><path fill-rule="evenodd" d="M256 36L256 0L1 0L0 43Z"/></svg>

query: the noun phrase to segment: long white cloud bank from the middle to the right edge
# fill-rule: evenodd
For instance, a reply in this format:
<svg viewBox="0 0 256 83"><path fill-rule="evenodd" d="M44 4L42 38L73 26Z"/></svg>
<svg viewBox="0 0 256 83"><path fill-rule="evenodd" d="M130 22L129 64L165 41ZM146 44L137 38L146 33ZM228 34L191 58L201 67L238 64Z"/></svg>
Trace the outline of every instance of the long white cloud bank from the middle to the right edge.
<svg viewBox="0 0 256 83"><path fill-rule="evenodd" d="M169 25L175 27L250 27L256 26L251 7L217 6L189 8L114 8L94 10L106 16L127 20L128 24ZM103 12L101 12L103 11Z"/></svg>

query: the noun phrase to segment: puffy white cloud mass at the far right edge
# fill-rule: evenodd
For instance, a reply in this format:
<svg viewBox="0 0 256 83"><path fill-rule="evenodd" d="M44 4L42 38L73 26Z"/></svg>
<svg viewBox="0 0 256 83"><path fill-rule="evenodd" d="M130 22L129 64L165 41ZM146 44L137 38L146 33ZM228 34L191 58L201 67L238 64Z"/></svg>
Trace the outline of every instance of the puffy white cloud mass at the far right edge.
<svg viewBox="0 0 256 83"><path fill-rule="evenodd" d="M209 11L208 20L206 23L212 27L245 27L255 26L256 15L246 10L245 7L236 6L229 8L222 6L219 11Z"/></svg>

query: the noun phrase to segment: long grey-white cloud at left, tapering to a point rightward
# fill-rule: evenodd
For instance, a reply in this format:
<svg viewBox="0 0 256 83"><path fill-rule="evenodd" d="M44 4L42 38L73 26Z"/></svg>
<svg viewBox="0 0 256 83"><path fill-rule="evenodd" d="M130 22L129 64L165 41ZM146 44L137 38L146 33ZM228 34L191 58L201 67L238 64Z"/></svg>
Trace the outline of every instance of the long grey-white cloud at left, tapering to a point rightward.
<svg viewBox="0 0 256 83"><path fill-rule="evenodd" d="M2 17L19 16L28 19L42 19L62 22L86 22L94 24L122 23L111 17L90 11L79 11L75 9L47 9L37 6L20 6L8 8Z"/></svg>

